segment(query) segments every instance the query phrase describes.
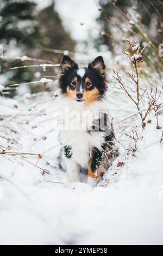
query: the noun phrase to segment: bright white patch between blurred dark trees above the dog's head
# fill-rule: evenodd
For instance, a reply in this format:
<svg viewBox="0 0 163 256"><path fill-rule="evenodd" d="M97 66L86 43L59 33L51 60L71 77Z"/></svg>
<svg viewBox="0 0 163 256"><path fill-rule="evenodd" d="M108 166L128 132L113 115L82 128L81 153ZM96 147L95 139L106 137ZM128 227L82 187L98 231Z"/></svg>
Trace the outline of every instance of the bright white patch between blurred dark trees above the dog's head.
<svg viewBox="0 0 163 256"><path fill-rule="evenodd" d="M52 3L51 0L44 2L42 0L35 0L35 2L39 10L48 7ZM90 32L97 36L98 31L96 29L92 31L92 27L99 27L96 22L99 11L94 1L83 0L82 2L77 2L76 0L56 0L55 10L58 11L66 30L71 32L74 40L82 41L88 37L90 38ZM74 11L73 15L70 15L69 13L67 14L67 10L77 11Z"/></svg>

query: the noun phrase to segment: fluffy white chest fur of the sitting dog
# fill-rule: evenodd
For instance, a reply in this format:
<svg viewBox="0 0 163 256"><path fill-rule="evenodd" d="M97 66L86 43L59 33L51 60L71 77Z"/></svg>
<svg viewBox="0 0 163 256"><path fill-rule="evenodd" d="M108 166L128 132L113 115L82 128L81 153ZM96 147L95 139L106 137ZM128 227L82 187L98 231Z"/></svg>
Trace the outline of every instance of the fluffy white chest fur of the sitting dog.
<svg viewBox="0 0 163 256"><path fill-rule="evenodd" d="M63 126L60 131L60 139L63 145L72 148L73 159L80 166L87 168L89 151L92 147L101 149L104 142L104 133L100 131L88 132L85 128L92 125L90 114L95 117L100 111L107 111L108 102L98 101L85 107L84 103L61 99L59 106L62 112ZM66 109L66 112L65 112ZM89 114L87 114L89 112ZM96 113L96 114L95 114ZM83 118L89 117L89 118Z"/></svg>

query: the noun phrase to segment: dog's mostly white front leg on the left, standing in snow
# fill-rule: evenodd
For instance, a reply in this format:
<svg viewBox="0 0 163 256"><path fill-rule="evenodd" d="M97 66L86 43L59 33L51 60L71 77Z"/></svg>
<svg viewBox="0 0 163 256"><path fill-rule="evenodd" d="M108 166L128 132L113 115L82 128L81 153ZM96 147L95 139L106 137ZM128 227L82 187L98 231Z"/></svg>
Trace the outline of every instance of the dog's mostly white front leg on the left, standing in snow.
<svg viewBox="0 0 163 256"><path fill-rule="evenodd" d="M78 163L76 163L72 159L72 153L71 148L68 146L64 147L64 153L65 153L65 163L66 163L66 169L68 172L68 176L71 182L79 181L79 166Z"/></svg>

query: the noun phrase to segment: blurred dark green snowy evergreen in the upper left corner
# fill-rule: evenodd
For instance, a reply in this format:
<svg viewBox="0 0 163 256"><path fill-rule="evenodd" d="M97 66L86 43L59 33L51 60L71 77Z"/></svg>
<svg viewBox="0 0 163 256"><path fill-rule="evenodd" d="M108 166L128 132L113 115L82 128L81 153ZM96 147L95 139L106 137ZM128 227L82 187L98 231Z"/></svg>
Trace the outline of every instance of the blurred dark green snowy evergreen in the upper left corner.
<svg viewBox="0 0 163 256"><path fill-rule="evenodd" d="M0 40L10 42L15 38L17 45L33 47L38 41L39 24L35 21L36 4L29 0L1 1Z"/></svg>

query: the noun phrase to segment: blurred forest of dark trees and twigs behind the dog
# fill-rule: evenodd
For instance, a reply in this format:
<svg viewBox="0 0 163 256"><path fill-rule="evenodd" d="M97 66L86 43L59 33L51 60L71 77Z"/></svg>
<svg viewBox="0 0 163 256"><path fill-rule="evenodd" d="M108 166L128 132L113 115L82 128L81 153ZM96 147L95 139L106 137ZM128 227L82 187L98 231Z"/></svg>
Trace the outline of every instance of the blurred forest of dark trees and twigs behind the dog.
<svg viewBox="0 0 163 256"><path fill-rule="evenodd" d="M126 39L130 36L133 41L140 40L142 47L145 44L149 46L145 50L144 60L161 76L162 57L158 52L159 45L163 42L163 1L91 1L98 10L94 27L85 25L84 20L73 21L73 11L79 10L67 10L67 18L78 22L78 26L87 26L89 29L89 38L83 40L84 51L80 50L80 53L87 54L91 47L95 49L96 54L97 51L103 55L109 52L110 56L116 57L124 50L124 45L127 47ZM89 15L91 10L85 11ZM68 16L69 14L71 16ZM94 30L96 34L91 33ZM60 62L63 54L74 57L79 49L79 41L74 40L64 27L62 17L55 8L55 1L51 1L46 8L38 9L37 2L34 1L2 0L0 44L0 93L4 96L16 94L16 86L8 89L11 84L38 81L42 77L55 80L59 68L53 65ZM41 64L52 66L47 68L44 65L42 68L39 66ZM24 65L28 67L16 68ZM30 67L31 65L36 67ZM4 87L5 90L2 89ZM28 88L32 93L45 90L38 86ZM54 88L47 88L52 89Z"/></svg>

